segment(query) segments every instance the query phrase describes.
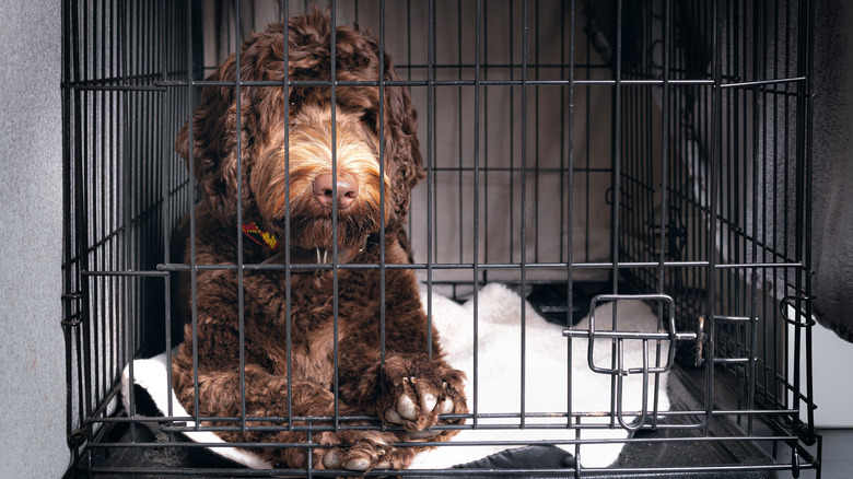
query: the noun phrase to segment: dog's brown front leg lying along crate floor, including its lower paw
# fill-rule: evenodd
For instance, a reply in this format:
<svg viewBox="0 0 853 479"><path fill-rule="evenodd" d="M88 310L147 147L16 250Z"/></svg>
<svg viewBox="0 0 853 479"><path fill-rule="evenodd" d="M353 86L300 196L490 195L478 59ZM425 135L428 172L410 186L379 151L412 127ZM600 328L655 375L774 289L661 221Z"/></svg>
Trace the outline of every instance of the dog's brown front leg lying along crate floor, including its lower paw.
<svg viewBox="0 0 853 479"><path fill-rule="evenodd" d="M198 397L200 417L237 418L201 421L205 427L223 428L217 435L225 441L293 445L253 448L254 453L270 464L303 469L311 463L315 469L365 471L402 469L411 462L413 453L409 448L395 449L393 446L400 441L399 434L363 430L372 424L370 421L342 420L339 431L330 431L332 424L328 419L317 419L311 423L300 419L293 420L292 430L287 428L290 418L332 417L336 398L328 388L313 382L293 382L289 400L287 378L270 374L254 364L247 364L243 375L238 369L211 371L202 367L196 382L192 359L187 354L189 350L182 348L173 363L174 389L178 400L190 413L195 413ZM337 404L340 416L363 416L363 411L350 407L340 398ZM242 417L246 418L245 430L239 421ZM272 418L281 419L277 421ZM307 425L319 428L311 437L311 442L319 447L304 447L309 442L305 431ZM349 429L352 427L358 429Z"/></svg>

